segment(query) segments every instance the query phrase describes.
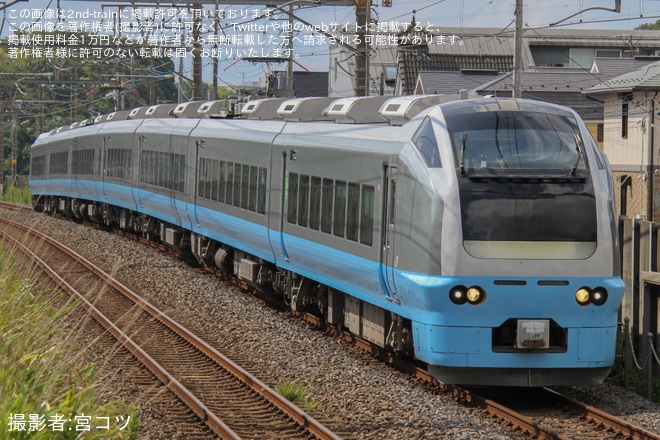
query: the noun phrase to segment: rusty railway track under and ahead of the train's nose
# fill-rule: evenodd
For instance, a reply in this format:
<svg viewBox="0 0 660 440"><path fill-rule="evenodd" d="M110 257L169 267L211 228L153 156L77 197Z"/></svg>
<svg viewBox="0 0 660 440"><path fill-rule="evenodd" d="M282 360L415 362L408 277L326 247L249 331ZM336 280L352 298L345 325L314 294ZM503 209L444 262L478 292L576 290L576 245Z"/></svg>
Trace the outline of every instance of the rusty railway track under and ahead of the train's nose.
<svg viewBox="0 0 660 440"><path fill-rule="evenodd" d="M22 208L13 206L12 209ZM303 315L303 317L312 324L321 325L318 317L313 315ZM129 319L129 321L131 320L135 321L135 318ZM339 332L338 329L332 329L332 331ZM347 341L355 343L396 368L498 418L508 427L515 438L660 440L660 435L656 433L632 425L614 415L582 404L553 390L466 389L438 383L428 375L423 366L393 357L390 353L382 351L354 335L340 333Z"/></svg>

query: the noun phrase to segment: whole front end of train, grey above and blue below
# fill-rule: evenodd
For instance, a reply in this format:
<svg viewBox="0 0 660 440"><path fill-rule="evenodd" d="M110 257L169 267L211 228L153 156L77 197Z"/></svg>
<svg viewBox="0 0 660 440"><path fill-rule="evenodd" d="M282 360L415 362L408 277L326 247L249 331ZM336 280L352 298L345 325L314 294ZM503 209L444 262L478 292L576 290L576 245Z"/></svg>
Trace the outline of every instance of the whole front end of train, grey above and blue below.
<svg viewBox="0 0 660 440"><path fill-rule="evenodd" d="M443 276L413 324L419 357L446 383L603 381L624 291L605 156L564 107L486 99L441 112L455 170L438 185Z"/></svg>

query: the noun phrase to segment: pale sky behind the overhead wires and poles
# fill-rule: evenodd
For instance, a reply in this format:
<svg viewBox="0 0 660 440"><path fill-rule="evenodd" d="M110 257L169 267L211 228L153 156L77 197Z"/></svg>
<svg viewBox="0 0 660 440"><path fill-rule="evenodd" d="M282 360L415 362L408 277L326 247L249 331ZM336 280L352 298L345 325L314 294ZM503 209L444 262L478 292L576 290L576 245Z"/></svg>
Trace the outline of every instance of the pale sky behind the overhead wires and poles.
<svg viewBox="0 0 660 440"><path fill-rule="evenodd" d="M391 0L392 7L380 6L382 0L374 0L372 18L381 23L405 23L412 20L413 14L418 22L423 25L430 24L436 29L442 27L494 27L509 28L514 27L515 0ZM16 3L7 8L4 13L0 12L2 21L2 35L6 36L11 32L11 26L8 23L12 20L8 18L10 12L12 15L20 10L60 8L67 11L102 11L102 5L117 3L130 4L127 0L106 0L106 1L71 1L71 0L28 0ZM265 3L266 1L264 1ZM137 2L136 4L140 5ZM279 1L279 3L283 3ZM162 8L171 8L173 2L161 2ZM526 0L523 7L523 22L525 27L537 28L547 27L550 23L557 22L568 16L575 14L580 10L592 7L614 8L615 0ZM236 4L236 9L265 10L264 6L245 6ZM207 5L206 8L213 9L213 5ZM221 5L221 9L228 9L231 6ZM108 10L107 8L105 9ZM4 15L3 15L4 14ZM314 8L296 8L294 14L315 25L329 25L339 23L340 25L353 22L355 20L355 10L353 7L314 7ZM284 19L284 15L282 18ZM562 27L570 28L609 28L609 29L632 29L639 24L655 22L660 19L660 0L622 0L622 12L617 14L610 11L591 10L583 14L572 17L562 22ZM17 21L16 19L13 20ZM226 35L236 34L228 27L232 20L226 20ZM238 17L233 21L240 20ZM267 23L261 20L261 23ZM279 21L283 23L284 21ZM272 23L272 22L271 22ZM300 34L303 37L304 33ZM312 35L307 33L308 35ZM280 33L281 35L281 33ZM318 36L319 34L317 34ZM328 66L328 48L323 44L309 44L301 47L301 44L294 46L296 61L309 70L327 70ZM261 50L257 46L256 49ZM211 59L205 61L204 80L210 82ZM188 69L189 62L185 62ZM284 63L273 64L273 69L285 69ZM1 69L1 68L0 68ZM299 69L298 67L296 69ZM254 80L262 76L267 71L265 63L250 63L246 61L236 62L235 59L224 59L220 62L220 83L237 85L244 81ZM190 75L189 69L186 75Z"/></svg>

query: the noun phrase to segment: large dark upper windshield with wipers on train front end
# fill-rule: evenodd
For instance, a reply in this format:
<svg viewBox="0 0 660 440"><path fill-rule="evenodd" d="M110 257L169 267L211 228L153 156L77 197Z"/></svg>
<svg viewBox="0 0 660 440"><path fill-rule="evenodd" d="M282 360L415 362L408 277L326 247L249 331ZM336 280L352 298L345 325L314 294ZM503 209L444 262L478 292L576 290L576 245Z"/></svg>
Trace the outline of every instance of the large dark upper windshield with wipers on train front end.
<svg viewBox="0 0 660 440"><path fill-rule="evenodd" d="M575 173L586 168L582 141L569 117L490 111L447 117L461 172L487 169Z"/></svg>

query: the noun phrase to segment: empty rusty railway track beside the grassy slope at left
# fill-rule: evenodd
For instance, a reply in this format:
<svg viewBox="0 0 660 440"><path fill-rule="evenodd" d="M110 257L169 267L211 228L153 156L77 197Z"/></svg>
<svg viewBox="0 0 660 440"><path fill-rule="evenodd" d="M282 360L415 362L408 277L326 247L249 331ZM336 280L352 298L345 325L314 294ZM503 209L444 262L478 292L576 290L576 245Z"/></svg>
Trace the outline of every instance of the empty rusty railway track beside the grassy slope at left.
<svg viewBox="0 0 660 440"><path fill-rule="evenodd" d="M220 438L338 438L91 262L38 231L1 223L3 236L79 296L88 313Z"/></svg>

